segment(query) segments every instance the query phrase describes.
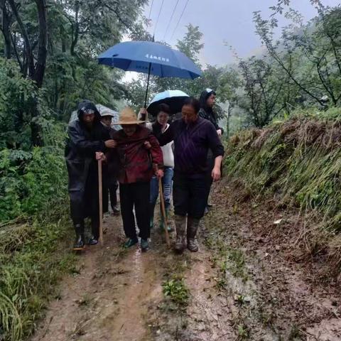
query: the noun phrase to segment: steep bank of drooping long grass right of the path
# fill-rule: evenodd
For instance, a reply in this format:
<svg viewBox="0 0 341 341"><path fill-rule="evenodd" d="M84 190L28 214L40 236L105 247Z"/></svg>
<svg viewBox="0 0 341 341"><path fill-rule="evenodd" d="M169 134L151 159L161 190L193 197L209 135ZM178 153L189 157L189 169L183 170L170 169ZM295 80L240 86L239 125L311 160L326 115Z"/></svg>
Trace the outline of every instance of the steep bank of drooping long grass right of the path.
<svg viewBox="0 0 341 341"><path fill-rule="evenodd" d="M282 204L315 215L319 223L310 232L318 237L312 246L321 245L341 231L340 145L340 108L297 112L286 121L233 136L224 169L230 178L242 180L249 193L275 194ZM340 267L341 245L328 243Z"/></svg>

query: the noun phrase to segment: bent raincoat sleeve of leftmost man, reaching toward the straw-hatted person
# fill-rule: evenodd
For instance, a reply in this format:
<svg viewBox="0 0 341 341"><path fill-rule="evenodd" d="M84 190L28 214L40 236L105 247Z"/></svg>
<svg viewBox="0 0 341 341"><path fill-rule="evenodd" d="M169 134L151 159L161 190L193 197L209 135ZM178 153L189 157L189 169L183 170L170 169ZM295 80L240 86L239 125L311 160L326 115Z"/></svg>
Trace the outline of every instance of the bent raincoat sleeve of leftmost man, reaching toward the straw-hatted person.
<svg viewBox="0 0 341 341"><path fill-rule="evenodd" d="M94 156L96 151L105 151L104 141L89 141L82 130L77 129L77 126L68 126L67 134L71 144L75 146L77 151L85 153L88 156ZM108 134L109 135L109 134ZM108 136L109 137L109 136Z"/></svg>

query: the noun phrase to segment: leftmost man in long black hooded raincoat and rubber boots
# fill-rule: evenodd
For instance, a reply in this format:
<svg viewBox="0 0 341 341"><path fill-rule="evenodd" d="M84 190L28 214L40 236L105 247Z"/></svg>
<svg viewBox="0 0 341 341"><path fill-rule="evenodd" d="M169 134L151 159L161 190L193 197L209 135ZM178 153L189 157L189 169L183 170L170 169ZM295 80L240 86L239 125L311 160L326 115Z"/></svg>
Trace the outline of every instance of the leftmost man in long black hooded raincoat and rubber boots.
<svg viewBox="0 0 341 341"><path fill-rule="evenodd" d="M95 153L116 146L109 131L100 122L96 106L88 101L78 105L78 120L67 127L65 160L69 175L71 218L75 227L74 249L85 246L84 220L91 218L92 237L89 244L97 244L99 237L98 171Z"/></svg>

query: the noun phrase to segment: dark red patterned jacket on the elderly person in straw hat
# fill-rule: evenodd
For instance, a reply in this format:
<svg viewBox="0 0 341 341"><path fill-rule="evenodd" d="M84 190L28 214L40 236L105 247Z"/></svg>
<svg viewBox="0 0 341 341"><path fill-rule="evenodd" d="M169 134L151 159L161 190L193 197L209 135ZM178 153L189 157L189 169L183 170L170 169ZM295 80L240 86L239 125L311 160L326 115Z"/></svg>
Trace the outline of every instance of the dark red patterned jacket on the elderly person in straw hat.
<svg viewBox="0 0 341 341"><path fill-rule="evenodd" d="M163 167L163 156L158 140L144 126L137 126L133 136L126 136L124 130L115 131L111 138L117 141L117 148L107 153L109 169L118 165L119 183L148 182L153 177L153 163ZM144 146L149 141L151 149ZM112 167L114 165L114 167Z"/></svg>

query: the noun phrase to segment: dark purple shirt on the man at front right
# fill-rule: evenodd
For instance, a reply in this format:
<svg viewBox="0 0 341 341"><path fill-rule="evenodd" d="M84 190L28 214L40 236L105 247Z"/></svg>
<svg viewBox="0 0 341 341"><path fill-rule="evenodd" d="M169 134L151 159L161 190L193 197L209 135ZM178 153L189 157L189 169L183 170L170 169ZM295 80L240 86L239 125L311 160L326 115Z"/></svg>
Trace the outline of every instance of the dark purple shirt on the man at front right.
<svg viewBox="0 0 341 341"><path fill-rule="evenodd" d="M215 126L210 121L198 117L192 124L183 119L174 121L160 136L161 146L174 140L174 171L186 175L207 173L207 153L212 150L213 157L224 155L224 147Z"/></svg>

